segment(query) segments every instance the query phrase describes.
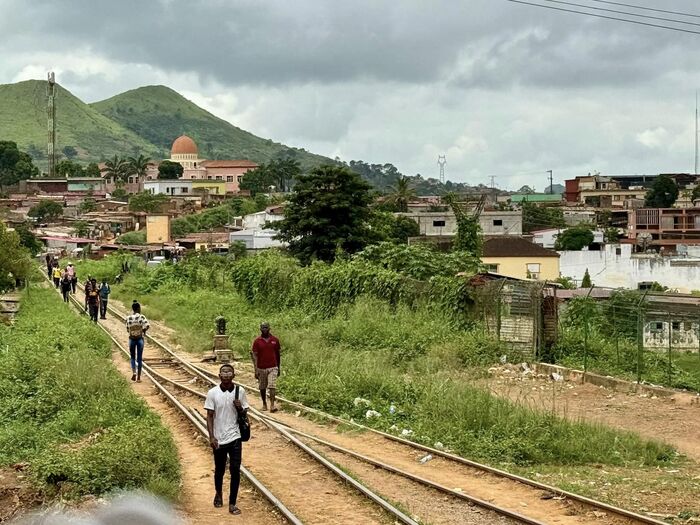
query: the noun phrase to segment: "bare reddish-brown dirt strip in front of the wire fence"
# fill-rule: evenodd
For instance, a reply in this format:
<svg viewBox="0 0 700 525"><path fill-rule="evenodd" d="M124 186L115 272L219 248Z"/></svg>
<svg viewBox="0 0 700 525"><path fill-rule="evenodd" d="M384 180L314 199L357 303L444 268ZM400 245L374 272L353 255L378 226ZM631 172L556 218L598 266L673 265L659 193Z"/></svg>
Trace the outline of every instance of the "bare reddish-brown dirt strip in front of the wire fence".
<svg viewBox="0 0 700 525"><path fill-rule="evenodd" d="M498 367L483 383L494 394L537 408L554 410L572 420L585 419L665 441L700 462L700 397L671 397L616 392L591 384L552 381L523 374L517 367Z"/></svg>

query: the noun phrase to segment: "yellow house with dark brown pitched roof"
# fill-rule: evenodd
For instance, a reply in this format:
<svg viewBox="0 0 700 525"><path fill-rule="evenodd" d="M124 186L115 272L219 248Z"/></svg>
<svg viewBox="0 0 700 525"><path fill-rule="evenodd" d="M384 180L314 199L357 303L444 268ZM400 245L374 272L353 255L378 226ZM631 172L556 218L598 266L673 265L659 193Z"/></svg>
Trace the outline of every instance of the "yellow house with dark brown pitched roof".
<svg viewBox="0 0 700 525"><path fill-rule="evenodd" d="M516 279L553 281L560 276L557 252L517 236L487 239L481 262L489 272Z"/></svg>

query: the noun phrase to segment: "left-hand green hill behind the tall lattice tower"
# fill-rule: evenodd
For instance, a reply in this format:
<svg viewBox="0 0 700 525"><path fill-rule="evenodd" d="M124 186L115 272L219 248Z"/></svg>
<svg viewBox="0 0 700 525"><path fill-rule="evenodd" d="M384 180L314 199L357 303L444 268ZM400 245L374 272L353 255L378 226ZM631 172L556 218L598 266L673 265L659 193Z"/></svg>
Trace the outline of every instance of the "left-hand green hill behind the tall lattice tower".
<svg viewBox="0 0 700 525"><path fill-rule="evenodd" d="M0 85L0 140L11 140L46 165L46 82L27 80ZM56 146L78 151L78 160L100 161L115 154L155 156L158 148L103 116L57 86Z"/></svg>

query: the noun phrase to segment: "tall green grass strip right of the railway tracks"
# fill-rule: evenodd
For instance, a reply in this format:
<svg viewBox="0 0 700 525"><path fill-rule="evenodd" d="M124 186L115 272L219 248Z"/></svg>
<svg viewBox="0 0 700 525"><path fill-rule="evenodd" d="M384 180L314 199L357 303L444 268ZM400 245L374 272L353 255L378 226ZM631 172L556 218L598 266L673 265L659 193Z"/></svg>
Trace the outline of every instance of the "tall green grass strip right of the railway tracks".
<svg viewBox="0 0 700 525"><path fill-rule="evenodd" d="M151 281L131 276L115 293L131 299L145 282ZM147 315L176 328L191 350L211 344L214 319L224 315L232 348L247 356L260 321L268 320L282 341L284 394L382 430L406 430L417 441L441 442L478 460L638 466L674 458L667 445L566 421L467 384L469 367L490 364L506 351L482 331L460 330L429 308L359 296L326 317L312 309L251 304L230 284L193 290L176 281L139 299ZM356 398L366 401L356 404ZM381 416L367 419L370 409Z"/></svg>

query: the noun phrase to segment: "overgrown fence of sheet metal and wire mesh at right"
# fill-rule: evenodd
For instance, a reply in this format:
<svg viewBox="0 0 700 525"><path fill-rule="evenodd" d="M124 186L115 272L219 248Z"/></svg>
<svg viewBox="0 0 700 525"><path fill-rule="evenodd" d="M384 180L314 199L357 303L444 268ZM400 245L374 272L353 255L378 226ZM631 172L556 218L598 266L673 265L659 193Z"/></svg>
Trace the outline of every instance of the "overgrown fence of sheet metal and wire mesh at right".
<svg viewBox="0 0 700 525"><path fill-rule="evenodd" d="M601 289L571 297L507 279L473 295L476 317L526 359L700 390L700 297Z"/></svg>

